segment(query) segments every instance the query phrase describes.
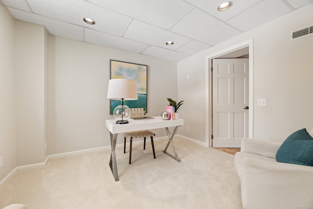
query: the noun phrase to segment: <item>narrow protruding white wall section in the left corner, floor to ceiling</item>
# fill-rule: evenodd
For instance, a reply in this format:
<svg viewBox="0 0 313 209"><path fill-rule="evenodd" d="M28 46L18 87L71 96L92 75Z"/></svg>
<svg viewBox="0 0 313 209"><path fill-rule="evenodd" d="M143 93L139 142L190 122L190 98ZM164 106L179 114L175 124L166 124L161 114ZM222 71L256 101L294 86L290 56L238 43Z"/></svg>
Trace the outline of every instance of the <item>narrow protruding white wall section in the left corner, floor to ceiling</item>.
<svg viewBox="0 0 313 209"><path fill-rule="evenodd" d="M47 37L44 26L15 22L18 165L47 157Z"/></svg>

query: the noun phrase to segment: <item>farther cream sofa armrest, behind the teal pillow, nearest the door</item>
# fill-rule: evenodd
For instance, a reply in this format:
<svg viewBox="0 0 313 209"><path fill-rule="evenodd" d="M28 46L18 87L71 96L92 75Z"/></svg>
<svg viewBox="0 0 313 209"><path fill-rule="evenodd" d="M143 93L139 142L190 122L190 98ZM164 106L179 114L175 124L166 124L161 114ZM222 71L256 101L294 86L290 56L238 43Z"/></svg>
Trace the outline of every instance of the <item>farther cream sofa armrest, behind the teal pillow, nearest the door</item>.
<svg viewBox="0 0 313 209"><path fill-rule="evenodd" d="M281 144L282 142L276 141L242 139L240 151L276 159L276 152Z"/></svg>

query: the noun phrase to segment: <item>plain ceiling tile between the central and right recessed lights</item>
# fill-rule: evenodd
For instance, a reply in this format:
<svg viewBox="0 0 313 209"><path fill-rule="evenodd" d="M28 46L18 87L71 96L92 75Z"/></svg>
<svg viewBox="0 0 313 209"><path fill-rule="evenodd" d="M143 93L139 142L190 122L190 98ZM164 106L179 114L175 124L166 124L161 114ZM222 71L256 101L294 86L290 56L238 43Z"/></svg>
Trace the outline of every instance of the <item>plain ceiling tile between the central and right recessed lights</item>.
<svg viewBox="0 0 313 209"><path fill-rule="evenodd" d="M171 31L208 45L216 45L242 33L198 9L194 9Z"/></svg>

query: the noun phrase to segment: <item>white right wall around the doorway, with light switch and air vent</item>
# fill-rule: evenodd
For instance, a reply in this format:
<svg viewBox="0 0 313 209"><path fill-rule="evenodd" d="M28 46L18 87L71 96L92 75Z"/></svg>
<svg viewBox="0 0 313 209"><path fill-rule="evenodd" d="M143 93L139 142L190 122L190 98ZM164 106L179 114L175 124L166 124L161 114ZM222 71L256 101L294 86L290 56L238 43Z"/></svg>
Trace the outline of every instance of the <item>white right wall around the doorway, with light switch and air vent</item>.
<svg viewBox="0 0 313 209"><path fill-rule="evenodd" d="M283 141L298 129L313 129L313 36L290 41L291 31L313 24L312 11L310 4L180 61L178 98L186 102L179 111L185 119L179 134L206 141L205 57L249 39L254 45L253 138ZM257 106L258 98L267 98L267 107Z"/></svg>

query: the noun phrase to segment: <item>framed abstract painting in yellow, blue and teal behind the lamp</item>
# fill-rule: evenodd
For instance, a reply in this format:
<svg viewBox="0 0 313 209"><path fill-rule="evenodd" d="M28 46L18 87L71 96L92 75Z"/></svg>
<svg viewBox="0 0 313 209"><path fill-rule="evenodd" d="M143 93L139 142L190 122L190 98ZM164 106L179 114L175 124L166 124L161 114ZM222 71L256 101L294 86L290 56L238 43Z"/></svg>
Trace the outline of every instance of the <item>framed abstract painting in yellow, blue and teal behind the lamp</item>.
<svg viewBox="0 0 313 209"><path fill-rule="evenodd" d="M148 66L134 63L110 60L110 79L126 78L134 80L137 84L138 100L125 100L124 104L129 108L144 108L147 113L147 71ZM116 106L120 105L120 100L110 99L110 114Z"/></svg>

